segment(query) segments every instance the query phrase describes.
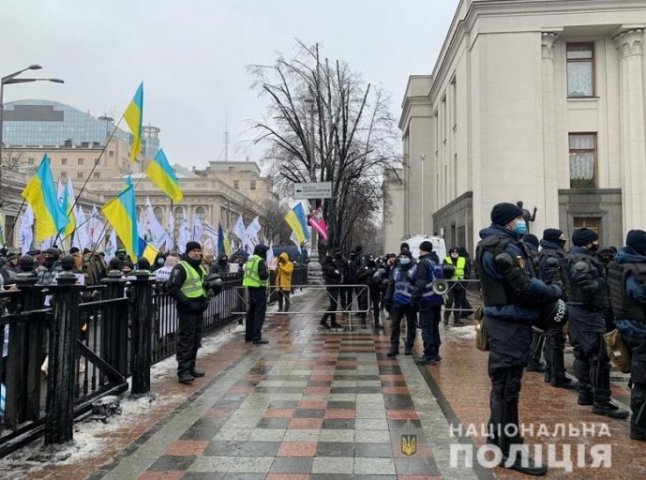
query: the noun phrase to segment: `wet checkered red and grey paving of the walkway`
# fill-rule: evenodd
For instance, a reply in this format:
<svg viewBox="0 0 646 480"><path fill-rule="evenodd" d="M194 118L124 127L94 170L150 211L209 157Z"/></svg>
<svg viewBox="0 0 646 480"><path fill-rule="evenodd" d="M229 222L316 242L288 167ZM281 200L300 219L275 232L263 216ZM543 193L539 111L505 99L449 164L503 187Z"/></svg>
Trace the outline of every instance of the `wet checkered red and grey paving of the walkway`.
<svg viewBox="0 0 646 480"><path fill-rule="evenodd" d="M298 299L293 308L305 310ZM300 307L299 302L305 302ZM158 395L183 392L183 401L160 414L151 406L120 450L70 466L52 465L30 478L98 480L430 480L517 479L502 468L452 462L451 446L478 447L466 435L486 422L489 380L485 353L474 348L469 328L443 329L442 361L420 367L411 356L386 357L386 333L323 331L308 315L268 317L268 345L233 336L215 354L198 357L207 377L192 386L170 375L155 384ZM347 321L347 320L346 320ZM416 354L421 352L418 339ZM213 358L217 361L213 361ZM613 378L626 400L624 377ZM644 445L628 440L627 422L592 415L570 391L546 386L526 373L521 421L538 428L559 422L603 422L610 437L531 437L532 445L559 448L582 443L612 445L612 469L553 468L546 478L646 478ZM457 426L462 425L462 434ZM451 428L451 426L454 428ZM415 439L412 448L411 439ZM406 442L405 440L409 440ZM116 448L116 447L114 447ZM414 451L413 451L414 450ZM561 450L558 450L559 452ZM560 459L561 456L559 455ZM590 456L587 455L587 464ZM454 459L453 459L454 460ZM617 467L620 465L621 467Z"/></svg>

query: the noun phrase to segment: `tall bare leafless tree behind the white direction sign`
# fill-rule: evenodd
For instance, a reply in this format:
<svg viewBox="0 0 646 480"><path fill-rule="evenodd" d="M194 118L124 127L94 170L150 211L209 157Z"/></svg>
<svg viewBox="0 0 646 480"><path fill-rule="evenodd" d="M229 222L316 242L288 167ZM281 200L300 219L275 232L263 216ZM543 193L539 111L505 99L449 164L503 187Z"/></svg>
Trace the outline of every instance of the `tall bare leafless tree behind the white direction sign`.
<svg viewBox="0 0 646 480"><path fill-rule="evenodd" d="M332 183L323 203L328 247L347 249L357 222L379 208L384 168L395 167L394 118L389 98L339 60L322 59L318 44L298 42L294 58L252 66L254 87L269 99L268 119L254 124L257 141L269 141L278 189L294 183ZM312 206L315 204L313 202Z"/></svg>

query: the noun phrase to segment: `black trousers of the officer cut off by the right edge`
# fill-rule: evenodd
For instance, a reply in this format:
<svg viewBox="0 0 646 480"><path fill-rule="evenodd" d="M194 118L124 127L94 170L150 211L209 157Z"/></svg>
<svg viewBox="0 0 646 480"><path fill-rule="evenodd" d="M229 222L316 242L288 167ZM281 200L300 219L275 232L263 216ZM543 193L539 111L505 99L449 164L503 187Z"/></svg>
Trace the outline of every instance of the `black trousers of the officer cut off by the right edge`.
<svg viewBox="0 0 646 480"><path fill-rule="evenodd" d="M638 435L646 435L646 338L628 335L621 338L630 351L630 379L633 383L630 392L630 430Z"/></svg>

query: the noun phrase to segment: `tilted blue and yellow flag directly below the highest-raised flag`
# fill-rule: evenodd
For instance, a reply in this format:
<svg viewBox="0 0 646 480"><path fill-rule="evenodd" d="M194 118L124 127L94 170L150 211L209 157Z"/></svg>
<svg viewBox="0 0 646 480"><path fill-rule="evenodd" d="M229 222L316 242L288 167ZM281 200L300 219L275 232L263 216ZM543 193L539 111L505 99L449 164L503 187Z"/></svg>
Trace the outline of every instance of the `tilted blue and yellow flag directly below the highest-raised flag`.
<svg viewBox="0 0 646 480"><path fill-rule="evenodd" d="M131 258L139 258L141 252L139 250L139 232L137 231L135 186L130 177L126 180L126 188L106 203L101 211L121 238L128 255Z"/></svg>

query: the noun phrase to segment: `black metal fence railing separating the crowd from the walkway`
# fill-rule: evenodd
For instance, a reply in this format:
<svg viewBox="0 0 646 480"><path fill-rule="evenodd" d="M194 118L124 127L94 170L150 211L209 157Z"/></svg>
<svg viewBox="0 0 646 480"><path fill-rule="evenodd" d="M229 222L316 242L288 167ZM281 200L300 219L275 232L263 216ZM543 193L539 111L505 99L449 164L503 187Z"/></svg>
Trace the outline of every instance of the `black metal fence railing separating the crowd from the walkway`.
<svg viewBox="0 0 646 480"><path fill-rule="evenodd" d="M298 268L294 278L307 278ZM273 280L273 279L272 279ZM74 418L107 394L150 389L150 367L176 352L175 300L148 272L111 272L102 285L82 286L71 272L38 285L33 272L0 291L0 457L39 435L45 444L72 439ZM226 274L209 299L203 332L240 318L241 273Z"/></svg>

